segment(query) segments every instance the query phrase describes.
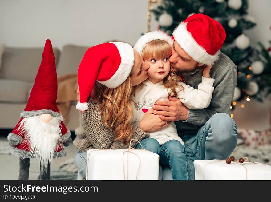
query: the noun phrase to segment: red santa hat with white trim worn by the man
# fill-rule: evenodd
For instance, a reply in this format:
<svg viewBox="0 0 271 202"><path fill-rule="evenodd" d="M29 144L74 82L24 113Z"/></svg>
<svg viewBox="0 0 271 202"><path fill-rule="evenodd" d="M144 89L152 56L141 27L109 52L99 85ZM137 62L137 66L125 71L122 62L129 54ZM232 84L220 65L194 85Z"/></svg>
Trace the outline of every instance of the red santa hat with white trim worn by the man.
<svg viewBox="0 0 271 202"><path fill-rule="evenodd" d="M219 58L226 38L222 25L204 14L191 15L172 35L190 57L205 65L211 65Z"/></svg>

